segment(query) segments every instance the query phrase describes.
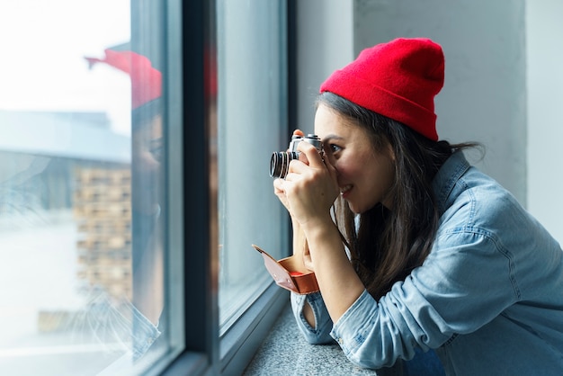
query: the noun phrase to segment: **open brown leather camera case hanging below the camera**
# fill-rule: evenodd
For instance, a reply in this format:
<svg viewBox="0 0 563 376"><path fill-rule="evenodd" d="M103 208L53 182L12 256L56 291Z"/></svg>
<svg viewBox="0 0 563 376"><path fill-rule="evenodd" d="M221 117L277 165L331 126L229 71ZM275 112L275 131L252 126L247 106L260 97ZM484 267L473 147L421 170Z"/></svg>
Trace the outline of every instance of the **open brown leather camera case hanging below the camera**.
<svg viewBox="0 0 563 376"><path fill-rule="evenodd" d="M260 252L264 257L264 265L268 273L272 275L275 281L282 288L296 292L298 294L310 294L318 291L317 277L315 273L301 273L297 268L297 259L295 256L282 258L276 261L271 255L268 255L264 249L259 246L252 245L256 251Z"/></svg>

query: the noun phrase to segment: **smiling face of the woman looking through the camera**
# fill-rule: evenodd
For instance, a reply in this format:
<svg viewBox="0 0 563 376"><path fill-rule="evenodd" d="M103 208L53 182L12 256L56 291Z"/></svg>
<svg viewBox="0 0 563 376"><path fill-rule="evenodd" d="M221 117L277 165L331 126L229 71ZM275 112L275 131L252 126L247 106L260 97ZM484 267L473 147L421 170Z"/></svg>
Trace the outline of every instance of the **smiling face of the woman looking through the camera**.
<svg viewBox="0 0 563 376"><path fill-rule="evenodd" d="M324 104L317 108L315 133L335 166L341 195L350 209L359 214L379 202L391 209L389 192L395 180L391 148L376 151L366 130Z"/></svg>

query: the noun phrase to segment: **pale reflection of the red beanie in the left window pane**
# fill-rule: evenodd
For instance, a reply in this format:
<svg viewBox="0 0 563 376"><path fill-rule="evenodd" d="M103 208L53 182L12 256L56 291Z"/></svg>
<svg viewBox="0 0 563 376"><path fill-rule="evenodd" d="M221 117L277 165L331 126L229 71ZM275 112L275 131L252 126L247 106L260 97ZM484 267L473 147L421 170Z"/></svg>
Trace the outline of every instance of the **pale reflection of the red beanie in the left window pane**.
<svg viewBox="0 0 563 376"><path fill-rule="evenodd" d="M133 109L162 95L162 75L150 60L132 51L105 49L105 58L85 58L90 67L106 63L130 75L131 107Z"/></svg>

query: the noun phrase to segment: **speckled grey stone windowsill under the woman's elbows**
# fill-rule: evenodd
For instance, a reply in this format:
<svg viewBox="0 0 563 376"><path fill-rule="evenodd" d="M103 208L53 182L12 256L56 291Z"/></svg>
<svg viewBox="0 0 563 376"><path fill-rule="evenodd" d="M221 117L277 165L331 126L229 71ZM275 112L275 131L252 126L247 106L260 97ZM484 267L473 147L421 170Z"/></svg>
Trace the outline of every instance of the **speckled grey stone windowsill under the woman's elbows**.
<svg viewBox="0 0 563 376"><path fill-rule="evenodd" d="M299 332L289 304L256 351L244 376L255 375L400 375L401 365L378 372L353 365L336 343L310 345Z"/></svg>

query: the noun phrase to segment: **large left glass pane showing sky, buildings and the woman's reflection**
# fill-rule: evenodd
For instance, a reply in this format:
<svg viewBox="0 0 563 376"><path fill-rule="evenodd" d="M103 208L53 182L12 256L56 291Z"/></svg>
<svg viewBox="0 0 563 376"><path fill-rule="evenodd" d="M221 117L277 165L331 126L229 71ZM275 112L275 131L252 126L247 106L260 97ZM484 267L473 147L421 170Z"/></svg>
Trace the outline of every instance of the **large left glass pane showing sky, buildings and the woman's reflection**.
<svg viewBox="0 0 563 376"><path fill-rule="evenodd" d="M169 353L163 57L131 38L162 24L130 6L0 3L3 374L139 374Z"/></svg>

